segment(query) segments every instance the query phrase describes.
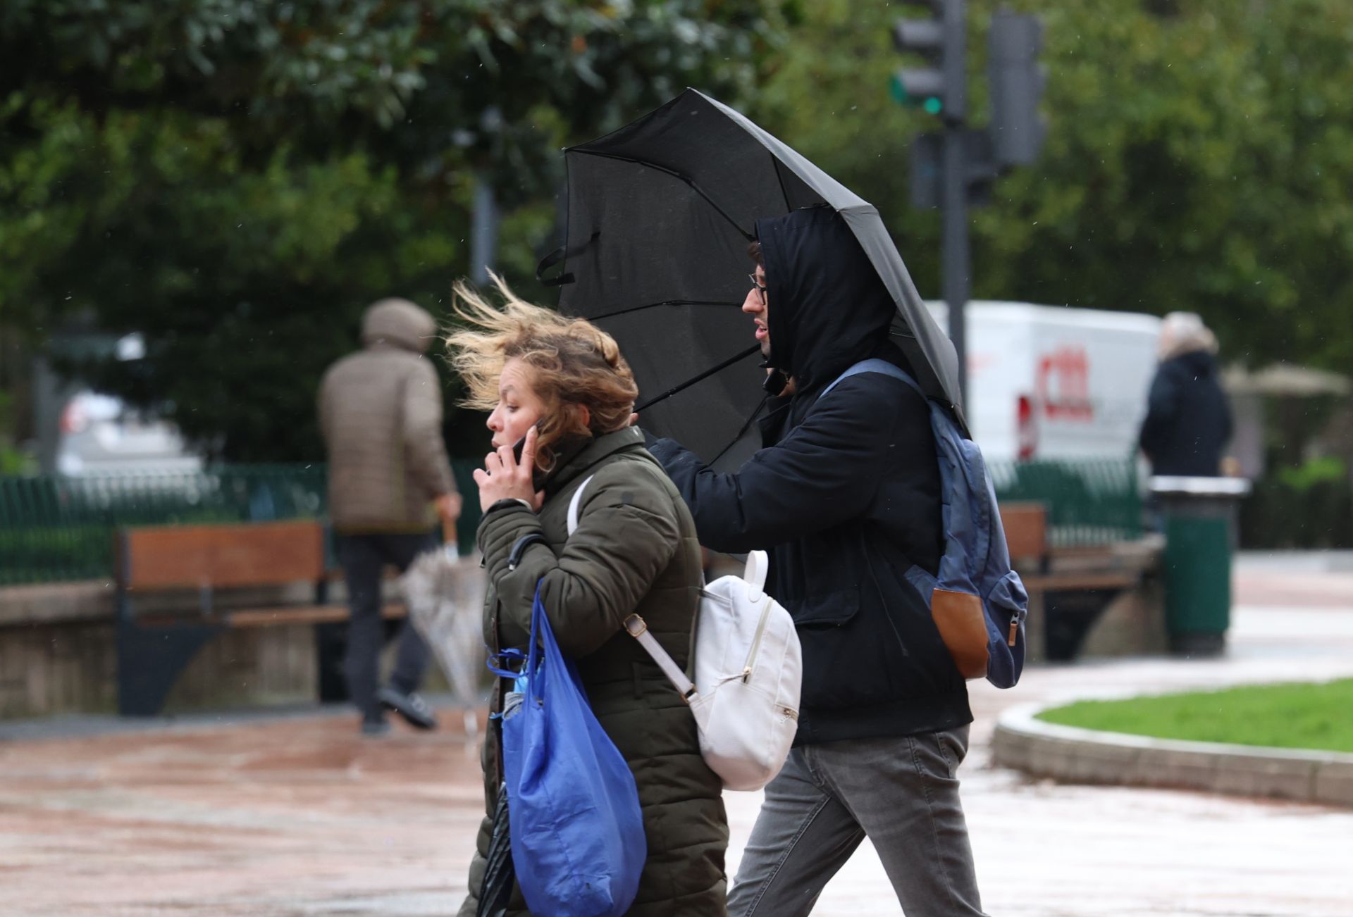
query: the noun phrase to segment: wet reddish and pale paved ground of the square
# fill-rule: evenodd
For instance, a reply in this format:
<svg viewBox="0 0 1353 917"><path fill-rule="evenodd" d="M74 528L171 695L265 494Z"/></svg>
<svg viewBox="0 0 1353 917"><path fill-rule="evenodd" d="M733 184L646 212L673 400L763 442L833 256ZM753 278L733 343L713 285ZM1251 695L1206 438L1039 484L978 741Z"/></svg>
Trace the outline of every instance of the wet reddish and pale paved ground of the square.
<svg viewBox="0 0 1353 917"><path fill-rule="evenodd" d="M1353 812L988 764L1011 703L1353 675L1353 559L1337 560L1243 563L1223 660L1049 667L1013 691L974 688L963 798L992 914L1353 914ZM464 894L483 801L459 730L363 740L331 714L54 729L83 734L0 732L0 914L445 914ZM731 868L758 805L728 795ZM897 912L866 844L815 913Z"/></svg>

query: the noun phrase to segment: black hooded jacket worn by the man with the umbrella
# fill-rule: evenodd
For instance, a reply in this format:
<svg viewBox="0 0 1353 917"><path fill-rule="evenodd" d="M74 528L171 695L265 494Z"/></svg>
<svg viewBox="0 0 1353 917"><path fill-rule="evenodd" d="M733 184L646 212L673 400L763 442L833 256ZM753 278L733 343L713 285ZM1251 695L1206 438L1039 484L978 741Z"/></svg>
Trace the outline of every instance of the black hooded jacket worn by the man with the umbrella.
<svg viewBox="0 0 1353 917"><path fill-rule="evenodd" d="M798 629L804 688L796 744L905 736L971 722L967 688L908 583L943 550L939 465L925 402L879 373L896 307L831 208L758 220L770 362L796 391L762 421L763 448L718 473L671 440L663 463L714 550L770 552L767 590ZM748 321L748 335L752 323Z"/></svg>

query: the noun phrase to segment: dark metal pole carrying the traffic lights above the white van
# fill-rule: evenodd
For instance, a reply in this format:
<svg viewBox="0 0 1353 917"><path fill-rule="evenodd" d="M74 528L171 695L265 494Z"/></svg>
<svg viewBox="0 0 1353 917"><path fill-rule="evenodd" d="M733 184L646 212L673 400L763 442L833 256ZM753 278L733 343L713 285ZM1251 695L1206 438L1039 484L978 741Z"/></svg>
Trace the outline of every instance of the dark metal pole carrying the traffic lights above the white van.
<svg viewBox="0 0 1353 917"><path fill-rule="evenodd" d="M963 0L948 0L944 4L944 85L951 93L944 105L944 161L940 180L943 223L943 295L948 306L948 337L958 353L958 390L963 398L963 410L971 417L967 406L967 326L965 306L969 296L969 253L967 253L967 154L963 146L963 115L966 108L965 69L965 26Z"/></svg>

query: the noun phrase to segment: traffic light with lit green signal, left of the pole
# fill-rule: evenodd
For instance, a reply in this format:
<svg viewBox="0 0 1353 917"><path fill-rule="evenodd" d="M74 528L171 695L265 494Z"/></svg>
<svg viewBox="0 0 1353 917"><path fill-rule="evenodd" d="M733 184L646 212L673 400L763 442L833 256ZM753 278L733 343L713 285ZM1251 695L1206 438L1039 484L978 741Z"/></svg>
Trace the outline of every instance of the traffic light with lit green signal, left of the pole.
<svg viewBox="0 0 1353 917"><path fill-rule="evenodd" d="M925 0L928 19L893 23L893 46L920 54L930 66L900 68L893 73L893 97L946 120L963 118L963 0Z"/></svg>

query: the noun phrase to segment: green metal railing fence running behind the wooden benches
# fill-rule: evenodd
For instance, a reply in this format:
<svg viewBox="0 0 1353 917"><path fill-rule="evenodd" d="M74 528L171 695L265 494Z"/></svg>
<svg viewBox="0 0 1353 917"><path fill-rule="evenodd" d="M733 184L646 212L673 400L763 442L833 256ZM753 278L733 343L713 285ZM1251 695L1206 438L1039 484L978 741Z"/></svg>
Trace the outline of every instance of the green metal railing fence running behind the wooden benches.
<svg viewBox="0 0 1353 917"><path fill-rule="evenodd" d="M471 473L455 461L467 495L461 550L474 545L479 502ZM1135 538L1142 500L1131 461L993 463L1003 500L1047 506L1057 546ZM325 515L325 467L227 465L196 473L91 477L0 477L0 586L112 579L114 533L129 525L264 522Z"/></svg>

